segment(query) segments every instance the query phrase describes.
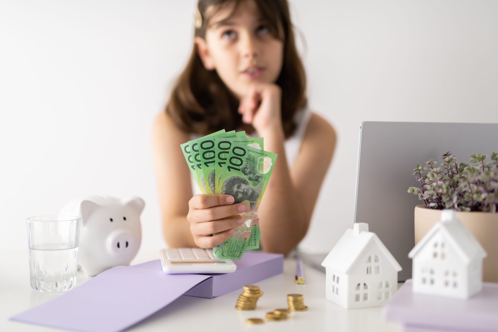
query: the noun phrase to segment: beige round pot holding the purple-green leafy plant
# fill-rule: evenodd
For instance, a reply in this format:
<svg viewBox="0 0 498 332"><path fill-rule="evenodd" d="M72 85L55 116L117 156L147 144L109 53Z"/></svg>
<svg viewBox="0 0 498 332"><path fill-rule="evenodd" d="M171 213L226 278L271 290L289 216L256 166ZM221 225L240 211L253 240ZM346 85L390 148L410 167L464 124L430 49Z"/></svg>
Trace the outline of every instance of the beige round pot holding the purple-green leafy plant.
<svg viewBox="0 0 498 332"><path fill-rule="evenodd" d="M488 253L483 261L483 280L498 282L498 213L457 212L463 222ZM415 207L415 244L441 219L441 210Z"/></svg>

